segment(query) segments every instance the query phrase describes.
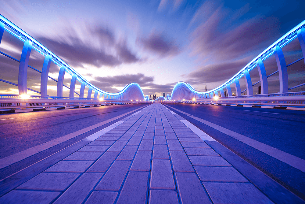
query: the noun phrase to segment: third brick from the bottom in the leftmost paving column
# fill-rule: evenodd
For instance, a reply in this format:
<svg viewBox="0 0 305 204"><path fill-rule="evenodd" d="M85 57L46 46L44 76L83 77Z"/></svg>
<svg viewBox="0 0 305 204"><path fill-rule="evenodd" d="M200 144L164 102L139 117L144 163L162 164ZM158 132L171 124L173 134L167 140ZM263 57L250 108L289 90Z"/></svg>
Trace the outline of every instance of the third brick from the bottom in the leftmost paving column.
<svg viewBox="0 0 305 204"><path fill-rule="evenodd" d="M93 161L59 161L45 171L81 173L84 172L92 163Z"/></svg>

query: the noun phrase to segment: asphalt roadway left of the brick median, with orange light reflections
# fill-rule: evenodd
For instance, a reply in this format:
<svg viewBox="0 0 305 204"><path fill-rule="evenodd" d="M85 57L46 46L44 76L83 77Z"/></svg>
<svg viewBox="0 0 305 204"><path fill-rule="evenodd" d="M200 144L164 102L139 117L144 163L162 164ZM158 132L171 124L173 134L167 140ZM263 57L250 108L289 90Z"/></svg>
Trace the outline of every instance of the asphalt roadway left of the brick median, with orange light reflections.
<svg viewBox="0 0 305 204"><path fill-rule="evenodd" d="M2 114L0 115L0 159L147 105L148 104L128 104ZM129 113L128 115L130 114L132 113ZM120 119L114 120L99 128L77 135L63 143L54 143L47 150L1 169L0 180L119 120Z"/></svg>

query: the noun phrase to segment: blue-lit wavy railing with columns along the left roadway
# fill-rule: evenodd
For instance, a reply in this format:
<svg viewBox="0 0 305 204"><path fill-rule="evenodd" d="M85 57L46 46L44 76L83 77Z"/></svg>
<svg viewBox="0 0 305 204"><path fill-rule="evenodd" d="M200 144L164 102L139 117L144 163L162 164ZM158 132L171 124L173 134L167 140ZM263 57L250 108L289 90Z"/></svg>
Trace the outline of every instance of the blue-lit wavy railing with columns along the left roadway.
<svg viewBox="0 0 305 204"><path fill-rule="evenodd" d="M6 31L6 32L4 32ZM142 88L138 83L130 83L124 89L117 93L109 93L106 91L103 91L97 87L95 87L93 84L88 82L84 77L82 77L79 73L77 73L72 67L70 67L66 62L64 62L61 58L56 56L54 53L52 53L50 50L48 50L45 46L43 46L41 43L39 43L36 39L34 39L32 36L28 35L26 32L24 32L22 29L20 29L18 26L13 24L11 21L0 15L0 43L2 40L3 34L12 35L16 39L19 39L24 43L23 50L21 53L20 60L16 59L9 54L6 54L2 51L0 51L0 54L9 57L13 59L14 61L19 62L19 75L18 75L18 84L7 81L5 79L0 79L0 81L9 83L12 85L15 85L18 87L19 95L27 95L27 90L34 91L41 96L48 96L48 78L55 81L57 83L57 97L63 96L63 87L68 88L69 91L69 98L74 98L74 94L79 95L79 98L84 98L84 90L85 87L88 87L88 95L87 98L92 98L92 91L94 91L93 98L103 98L105 100L148 100L148 96L144 97ZM39 71L38 69L29 66L29 57L31 50L36 50L39 54L43 55L45 57L42 71ZM48 76L50 64L55 63L60 67L59 73L58 73L58 80L52 78L51 76ZM33 69L39 73L41 73L41 83L40 83L40 91L34 90L31 87L27 87L27 69L28 67L30 69ZM72 76L70 87L63 84L65 73L68 73ZM1 77L2 78L2 77ZM76 81L79 81L81 83L81 89L80 93L77 93L75 91L75 84Z"/></svg>

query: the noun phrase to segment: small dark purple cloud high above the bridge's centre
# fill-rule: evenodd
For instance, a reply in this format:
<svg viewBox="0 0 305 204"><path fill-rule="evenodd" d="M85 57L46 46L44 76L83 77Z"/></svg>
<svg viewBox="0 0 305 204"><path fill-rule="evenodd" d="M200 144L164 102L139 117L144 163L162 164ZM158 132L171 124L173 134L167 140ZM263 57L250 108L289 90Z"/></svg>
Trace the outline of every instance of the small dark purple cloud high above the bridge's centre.
<svg viewBox="0 0 305 204"><path fill-rule="evenodd" d="M145 51L157 54L161 58L175 56L180 53L174 40L168 41L160 34L152 33L149 37L140 39L140 42Z"/></svg>

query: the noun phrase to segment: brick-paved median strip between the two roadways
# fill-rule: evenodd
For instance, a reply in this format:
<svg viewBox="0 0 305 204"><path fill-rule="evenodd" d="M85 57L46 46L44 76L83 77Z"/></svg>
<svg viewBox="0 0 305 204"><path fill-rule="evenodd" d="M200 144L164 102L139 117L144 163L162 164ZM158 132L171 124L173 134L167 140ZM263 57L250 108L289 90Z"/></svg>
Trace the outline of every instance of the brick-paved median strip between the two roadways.
<svg viewBox="0 0 305 204"><path fill-rule="evenodd" d="M273 203L160 103L85 140L0 203Z"/></svg>

